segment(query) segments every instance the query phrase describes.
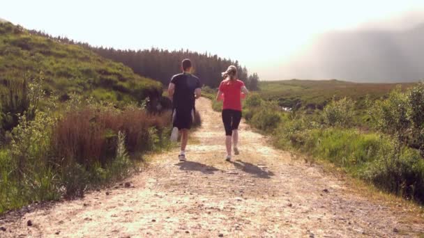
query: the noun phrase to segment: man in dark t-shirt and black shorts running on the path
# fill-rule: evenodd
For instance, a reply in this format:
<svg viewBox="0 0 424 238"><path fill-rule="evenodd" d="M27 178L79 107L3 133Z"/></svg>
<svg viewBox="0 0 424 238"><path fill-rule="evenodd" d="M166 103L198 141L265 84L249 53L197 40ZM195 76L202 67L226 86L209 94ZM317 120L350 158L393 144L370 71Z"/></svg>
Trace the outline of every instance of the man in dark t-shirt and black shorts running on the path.
<svg viewBox="0 0 424 238"><path fill-rule="evenodd" d="M181 152L179 154L179 160L185 161L185 146L188 141L188 130L193 121L195 100L200 97L202 84L200 84L199 78L190 73L192 65L188 58L183 60L181 64L183 72L172 77L168 87L168 94L174 105L171 140L176 141L179 132L181 132Z"/></svg>

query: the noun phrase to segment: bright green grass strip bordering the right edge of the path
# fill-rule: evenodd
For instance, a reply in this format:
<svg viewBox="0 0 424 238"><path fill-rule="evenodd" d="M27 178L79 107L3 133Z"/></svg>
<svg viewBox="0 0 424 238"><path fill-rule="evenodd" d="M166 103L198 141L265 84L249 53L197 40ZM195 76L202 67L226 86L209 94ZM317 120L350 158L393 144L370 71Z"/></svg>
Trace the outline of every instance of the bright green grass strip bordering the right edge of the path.
<svg viewBox="0 0 424 238"><path fill-rule="evenodd" d="M275 132L274 138L278 148L307 154L315 161L330 161L381 190L424 203L423 158L408 147L396 152L384 134L338 127L290 133L286 128Z"/></svg>

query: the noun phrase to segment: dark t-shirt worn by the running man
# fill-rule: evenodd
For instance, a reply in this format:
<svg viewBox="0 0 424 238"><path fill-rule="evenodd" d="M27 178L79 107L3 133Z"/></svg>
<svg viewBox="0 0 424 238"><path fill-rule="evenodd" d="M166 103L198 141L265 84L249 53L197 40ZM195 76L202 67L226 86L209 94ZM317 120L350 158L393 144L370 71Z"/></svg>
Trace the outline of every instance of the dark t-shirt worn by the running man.
<svg viewBox="0 0 424 238"><path fill-rule="evenodd" d="M176 109L194 109L195 108L195 89L202 88L198 77L188 73L176 74L171 79L175 84L173 97L174 108Z"/></svg>

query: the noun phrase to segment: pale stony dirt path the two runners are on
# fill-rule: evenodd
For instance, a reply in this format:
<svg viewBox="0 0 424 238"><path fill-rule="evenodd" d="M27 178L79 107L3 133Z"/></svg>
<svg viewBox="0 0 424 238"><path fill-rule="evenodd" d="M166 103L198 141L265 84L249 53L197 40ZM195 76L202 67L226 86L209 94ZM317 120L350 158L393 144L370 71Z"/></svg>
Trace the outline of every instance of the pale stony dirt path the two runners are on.
<svg viewBox="0 0 424 238"><path fill-rule="evenodd" d="M319 166L269 147L244 123L241 154L224 161L219 113L204 98L197 108L203 124L192 135L189 161L179 163L178 150L158 154L129 180L134 187L94 191L36 209L20 221L0 221L8 229L0 230L0 237L414 237L424 232L418 216L364 198Z"/></svg>

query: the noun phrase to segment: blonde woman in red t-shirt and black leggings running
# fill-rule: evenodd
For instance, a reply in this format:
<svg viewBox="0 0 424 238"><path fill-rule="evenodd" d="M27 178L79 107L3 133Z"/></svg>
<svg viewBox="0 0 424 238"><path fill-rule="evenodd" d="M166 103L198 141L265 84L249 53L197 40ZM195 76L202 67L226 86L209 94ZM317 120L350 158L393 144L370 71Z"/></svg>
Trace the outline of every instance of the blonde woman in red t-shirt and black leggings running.
<svg viewBox="0 0 424 238"><path fill-rule="evenodd" d="M237 79L237 68L230 65L227 71L222 73L222 80L216 100L223 100L222 122L225 127L225 145L227 146L226 160L231 160L232 142L234 144L234 154L239 154L237 143L239 142L239 124L241 120L241 97L247 95L248 89L243 81Z"/></svg>

